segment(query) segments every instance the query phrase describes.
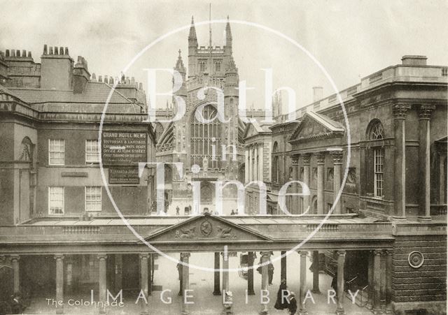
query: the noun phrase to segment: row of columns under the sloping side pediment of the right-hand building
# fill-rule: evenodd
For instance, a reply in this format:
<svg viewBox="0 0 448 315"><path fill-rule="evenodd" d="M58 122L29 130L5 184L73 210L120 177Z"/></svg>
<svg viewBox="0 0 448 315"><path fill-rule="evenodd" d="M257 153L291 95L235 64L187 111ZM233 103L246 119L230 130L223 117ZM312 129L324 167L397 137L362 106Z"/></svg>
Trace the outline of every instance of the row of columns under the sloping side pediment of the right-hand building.
<svg viewBox="0 0 448 315"><path fill-rule="evenodd" d="M316 164L317 164L317 209L316 214L325 214L325 156L326 154L330 154L333 161L333 200L337 200L337 194L339 193L339 190L341 189L341 173L342 173L342 158L344 156L342 149L335 148L331 149L330 151L323 151L323 152L314 152L314 153L304 153L304 154L295 154L293 156L293 180L300 180L299 178L299 156L302 156L303 161L303 178L302 182L306 184L308 187L310 187L310 176L311 176L311 170L310 170L310 161L311 161L311 155L314 154L316 157ZM307 207L311 207L311 200L310 196L304 196L304 203L302 212L304 212ZM298 199L293 198L293 200L297 200L296 202L293 201L293 206L297 206ZM311 212L311 209L308 213ZM338 200L337 203L334 205L334 214L340 214L342 213L342 206L340 201Z"/></svg>

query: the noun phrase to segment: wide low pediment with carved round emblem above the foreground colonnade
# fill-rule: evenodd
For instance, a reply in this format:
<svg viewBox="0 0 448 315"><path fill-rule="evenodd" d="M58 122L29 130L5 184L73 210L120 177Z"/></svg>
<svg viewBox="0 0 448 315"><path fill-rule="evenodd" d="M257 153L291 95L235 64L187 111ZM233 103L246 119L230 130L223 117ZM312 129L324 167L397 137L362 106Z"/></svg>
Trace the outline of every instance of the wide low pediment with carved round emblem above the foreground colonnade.
<svg viewBox="0 0 448 315"><path fill-rule="evenodd" d="M201 214L146 237L147 242L233 242L269 241L255 230L239 226L223 217Z"/></svg>

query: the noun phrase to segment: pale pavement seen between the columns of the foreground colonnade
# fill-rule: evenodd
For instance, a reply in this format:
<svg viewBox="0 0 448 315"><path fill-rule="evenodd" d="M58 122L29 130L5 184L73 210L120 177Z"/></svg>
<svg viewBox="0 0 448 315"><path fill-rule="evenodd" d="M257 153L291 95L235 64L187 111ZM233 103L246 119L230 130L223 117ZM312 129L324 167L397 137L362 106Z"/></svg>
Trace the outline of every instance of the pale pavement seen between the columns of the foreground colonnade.
<svg viewBox="0 0 448 315"><path fill-rule="evenodd" d="M179 254L173 254L172 257L179 258ZM279 256L279 252L274 253L274 257ZM255 260L258 262L260 255ZM291 254L287 258L287 268L288 268L288 288L291 291L297 293L299 292L299 255ZM239 266L239 254L238 256L229 257L230 268L238 268ZM153 291L148 299L148 311L149 314L181 314L181 297L177 295L179 292L179 280L178 272L176 269L176 263L170 261L169 259L160 256L156 261L158 264L158 270L155 271L155 284L162 286L162 290L170 289L171 292L165 292L164 298L166 301L172 298L171 304L164 304L160 299L160 293L162 291ZM201 265L207 268L213 268L214 265L214 254L213 253L193 253L190 256L190 263L195 265ZM269 314L283 314L286 315L288 312L279 311L274 309L276 291L279 288L280 282L280 260L274 263L274 281L273 285L269 286L269 296L271 300L269 302ZM312 273L309 271L310 262L307 260L307 287L311 290L312 288ZM332 278L327 274L320 274L320 289L321 294L313 294L314 301L313 304L311 300L307 300L307 310L309 314L335 314L336 305L327 302L327 290L330 288ZM208 272L204 270L197 270L195 268L190 268L190 289L193 290L193 300L194 304L190 305L191 314L221 314L222 310L222 296L212 295L214 287L214 274L213 272ZM246 303L245 290L247 288L247 281L238 276L237 272L230 272L230 291L233 293L234 301L234 313L235 314L248 314L256 315L261 309L260 306L260 282L261 275L258 272L254 272L254 291L255 295L249 295ZM78 296L78 300L84 298L89 300L88 296ZM140 307L134 302L137 296L132 298L125 298L125 307L110 307L107 309L108 314L139 314ZM372 314L369 310L365 308L360 308L357 305L353 305L351 300L348 298L344 301L344 307L346 314ZM97 314L98 309L92 307L65 307L64 312L66 314ZM46 305L45 300L35 300L32 302L31 307L27 309L27 314L55 314L55 308Z"/></svg>

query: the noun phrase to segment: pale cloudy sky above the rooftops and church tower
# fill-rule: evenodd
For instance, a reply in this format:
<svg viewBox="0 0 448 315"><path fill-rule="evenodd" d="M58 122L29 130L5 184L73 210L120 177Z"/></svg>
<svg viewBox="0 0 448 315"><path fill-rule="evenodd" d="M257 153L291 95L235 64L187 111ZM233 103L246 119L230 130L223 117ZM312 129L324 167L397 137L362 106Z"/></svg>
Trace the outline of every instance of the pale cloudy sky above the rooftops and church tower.
<svg viewBox="0 0 448 315"><path fill-rule="evenodd" d="M31 51L40 62L43 45L69 47L71 57L87 59L90 73L116 76L156 38L179 27L209 20L210 1L8 1L0 0L0 51ZM211 19L232 23L239 80L246 80L248 106L265 105L265 71L274 89L295 91L296 108L312 102L312 87L323 95L356 85L371 73L401 63L405 54L423 54L430 65L447 65L448 1L211 1ZM214 23L212 44L225 43L225 24ZM199 45L209 43L209 25L197 26ZM126 75L147 85L144 68L172 68L182 51L188 65L188 27L146 50ZM312 58L310 57L312 56ZM318 61L318 66L316 62ZM171 87L158 75L158 91ZM283 94L283 105L286 97ZM165 106L167 96L158 98Z"/></svg>

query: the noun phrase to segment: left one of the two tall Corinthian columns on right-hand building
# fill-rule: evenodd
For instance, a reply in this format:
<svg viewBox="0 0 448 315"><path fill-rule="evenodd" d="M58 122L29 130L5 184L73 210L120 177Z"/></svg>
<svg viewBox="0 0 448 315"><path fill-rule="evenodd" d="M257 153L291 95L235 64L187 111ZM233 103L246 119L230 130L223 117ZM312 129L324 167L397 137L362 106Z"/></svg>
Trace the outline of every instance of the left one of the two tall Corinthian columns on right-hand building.
<svg viewBox="0 0 448 315"><path fill-rule="evenodd" d="M406 112L410 105L395 104L393 115L395 115L394 137L395 137L395 157L394 157L394 203L395 214L393 219L406 219Z"/></svg>

